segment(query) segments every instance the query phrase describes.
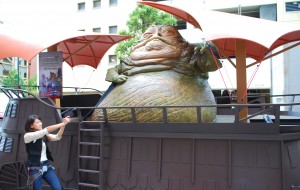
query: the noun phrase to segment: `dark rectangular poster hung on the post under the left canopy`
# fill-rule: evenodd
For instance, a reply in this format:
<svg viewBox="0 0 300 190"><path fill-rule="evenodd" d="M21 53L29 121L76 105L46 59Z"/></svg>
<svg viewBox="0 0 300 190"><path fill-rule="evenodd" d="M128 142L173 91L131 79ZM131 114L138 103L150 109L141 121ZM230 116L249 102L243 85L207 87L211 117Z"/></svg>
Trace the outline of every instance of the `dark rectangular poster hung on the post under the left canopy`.
<svg viewBox="0 0 300 190"><path fill-rule="evenodd" d="M39 96L62 96L62 52L39 53Z"/></svg>

